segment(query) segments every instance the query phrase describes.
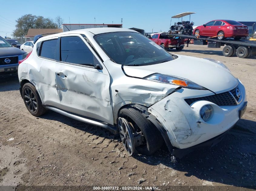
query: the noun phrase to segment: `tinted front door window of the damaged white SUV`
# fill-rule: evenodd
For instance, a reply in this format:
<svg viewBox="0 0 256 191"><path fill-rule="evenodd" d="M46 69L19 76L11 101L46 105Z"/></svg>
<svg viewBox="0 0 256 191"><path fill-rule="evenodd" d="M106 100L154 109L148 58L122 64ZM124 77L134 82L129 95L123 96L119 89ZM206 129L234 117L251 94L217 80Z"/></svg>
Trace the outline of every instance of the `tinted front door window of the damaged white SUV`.
<svg viewBox="0 0 256 191"><path fill-rule="evenodd" d="M61 61L94 66L96 58L80 37L61 38Z"/></svg>

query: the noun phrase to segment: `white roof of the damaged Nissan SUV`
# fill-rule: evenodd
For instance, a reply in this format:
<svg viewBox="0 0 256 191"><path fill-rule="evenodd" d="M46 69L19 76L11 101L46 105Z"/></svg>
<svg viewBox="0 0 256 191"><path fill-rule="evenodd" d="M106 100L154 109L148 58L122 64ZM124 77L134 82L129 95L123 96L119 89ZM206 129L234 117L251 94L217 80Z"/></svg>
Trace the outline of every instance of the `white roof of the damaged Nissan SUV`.
<svg viewBox="0 0 256 191"><path fill-rule="evenodd" d="M88 32L93 33L93 34L102 34L102 33L111 33L111 32L136 32L136 33L138 33L135 30L125 29L125 28L115 28L115 27L87 28L87 29L70 30L70 31L63 32L63 33L47 35L47 36L41 37L38 41L42 41L46 38L58 37L58 36L64 35L64 34L85 34L86 35L86 33L88 33Z"/></svg>

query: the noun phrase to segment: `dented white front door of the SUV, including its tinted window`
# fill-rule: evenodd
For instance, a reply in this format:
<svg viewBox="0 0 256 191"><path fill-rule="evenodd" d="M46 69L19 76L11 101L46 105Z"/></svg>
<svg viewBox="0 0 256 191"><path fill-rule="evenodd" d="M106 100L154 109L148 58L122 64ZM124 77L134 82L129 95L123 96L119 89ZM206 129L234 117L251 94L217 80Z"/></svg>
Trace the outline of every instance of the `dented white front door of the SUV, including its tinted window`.
<svg viewBox="0 0 256 191"><path fill-rule="evenodd" d="M107 69L80 34L63 35L59 42L55 68L58 108L113 124Z"/></svg>

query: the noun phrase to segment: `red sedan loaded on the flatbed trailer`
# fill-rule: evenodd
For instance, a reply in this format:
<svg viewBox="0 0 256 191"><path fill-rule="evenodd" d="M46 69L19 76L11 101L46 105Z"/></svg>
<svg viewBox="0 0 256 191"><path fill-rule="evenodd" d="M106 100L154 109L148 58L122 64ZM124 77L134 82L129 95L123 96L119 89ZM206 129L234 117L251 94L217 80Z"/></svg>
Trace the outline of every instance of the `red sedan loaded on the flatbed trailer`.
<svg viewBox="0 0 256 191"><path fill-rule="evenodd" d="M218 40L223 40L224 38L240 40L241 37L247 37L249 35L249 29L246 25L237 21L214 20L196 27L193 34L196 37L198 37L198 34L207 37L218 36Z"/></svg>

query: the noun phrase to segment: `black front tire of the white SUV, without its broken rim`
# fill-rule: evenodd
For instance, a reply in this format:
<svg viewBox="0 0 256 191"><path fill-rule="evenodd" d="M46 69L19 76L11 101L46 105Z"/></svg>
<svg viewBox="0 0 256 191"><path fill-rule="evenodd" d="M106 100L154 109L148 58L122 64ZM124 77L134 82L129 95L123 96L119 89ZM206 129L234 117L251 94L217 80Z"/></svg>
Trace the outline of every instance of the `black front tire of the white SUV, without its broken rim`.
<svg viewBox="0 0 256 191"><path fill-rule="evenodd" d="M158 129L134 107L126 107L120 110L119 116L132 123L135 132L142 132L146 142L136 147L136 150L145 155L151 155L159 150L163 144L163 138Z"/></svg>

